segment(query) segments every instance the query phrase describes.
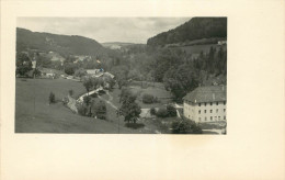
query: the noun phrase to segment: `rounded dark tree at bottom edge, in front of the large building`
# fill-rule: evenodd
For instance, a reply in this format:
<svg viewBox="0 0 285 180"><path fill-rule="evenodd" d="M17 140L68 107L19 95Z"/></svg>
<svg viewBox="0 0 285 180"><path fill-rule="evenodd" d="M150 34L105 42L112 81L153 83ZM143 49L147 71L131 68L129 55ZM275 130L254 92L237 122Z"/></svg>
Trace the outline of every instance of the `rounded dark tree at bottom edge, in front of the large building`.
<svg viewBox="0 0 285 180"><path fill-rule="evenodd" d="M176 120L172 122L172 134L202 134L202 128L191 120Z"/></svg>

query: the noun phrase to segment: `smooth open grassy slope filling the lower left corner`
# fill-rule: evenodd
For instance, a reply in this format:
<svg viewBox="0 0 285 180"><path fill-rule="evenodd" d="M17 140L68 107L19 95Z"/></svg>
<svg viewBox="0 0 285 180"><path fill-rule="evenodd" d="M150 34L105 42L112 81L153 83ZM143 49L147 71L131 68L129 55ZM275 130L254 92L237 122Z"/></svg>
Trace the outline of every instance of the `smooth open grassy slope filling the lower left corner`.
<svg viewBox="0 0 285 180"><path fill-rule="evenodd" d="M15 88L15 133L117 133L116 122L80 116L61 102L48 105L50 91L57 100L70 89L78 95L86 91L81 82L18 78ZM144 132L122 126L121 133Z"/></svg>

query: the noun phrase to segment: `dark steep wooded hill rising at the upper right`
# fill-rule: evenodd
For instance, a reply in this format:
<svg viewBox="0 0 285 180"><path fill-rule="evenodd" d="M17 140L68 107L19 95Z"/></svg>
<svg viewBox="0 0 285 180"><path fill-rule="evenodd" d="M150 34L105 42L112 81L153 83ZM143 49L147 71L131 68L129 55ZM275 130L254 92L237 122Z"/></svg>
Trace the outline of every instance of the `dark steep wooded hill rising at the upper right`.
<svg viewBox="0 0 285 180"><path fill-rule="evenodd" d="M184 24L160 33L147 41L148 45L163 46L166 44L184 43L202 38L226 38L227 18L193 18ZM207 44L217 42L206 42Z"/></svg>

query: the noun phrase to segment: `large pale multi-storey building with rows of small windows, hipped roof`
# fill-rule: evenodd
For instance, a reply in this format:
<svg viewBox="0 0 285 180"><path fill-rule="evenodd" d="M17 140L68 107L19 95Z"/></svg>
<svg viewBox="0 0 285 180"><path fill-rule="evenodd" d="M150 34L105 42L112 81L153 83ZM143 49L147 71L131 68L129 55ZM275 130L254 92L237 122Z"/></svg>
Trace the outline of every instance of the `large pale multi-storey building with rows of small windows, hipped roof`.
<svg viewBox="0 0 285 180"><path fill-rule="evenodd" d="M226 121L227 87L198 87L184 98L183 114L195 122Z"/></svg>

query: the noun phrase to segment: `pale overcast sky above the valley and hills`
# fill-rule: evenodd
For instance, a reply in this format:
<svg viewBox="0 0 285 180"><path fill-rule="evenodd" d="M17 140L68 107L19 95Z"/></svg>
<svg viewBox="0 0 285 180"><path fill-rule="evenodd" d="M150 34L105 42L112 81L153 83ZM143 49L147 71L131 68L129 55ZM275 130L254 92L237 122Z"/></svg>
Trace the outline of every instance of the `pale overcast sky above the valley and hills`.
<svg viewBox="0 0 285 180"><path fill-rule="evenodd" d="M191 18L19 18L16 25L33 32L81 35L100 43L147 43Z"/></svg>

